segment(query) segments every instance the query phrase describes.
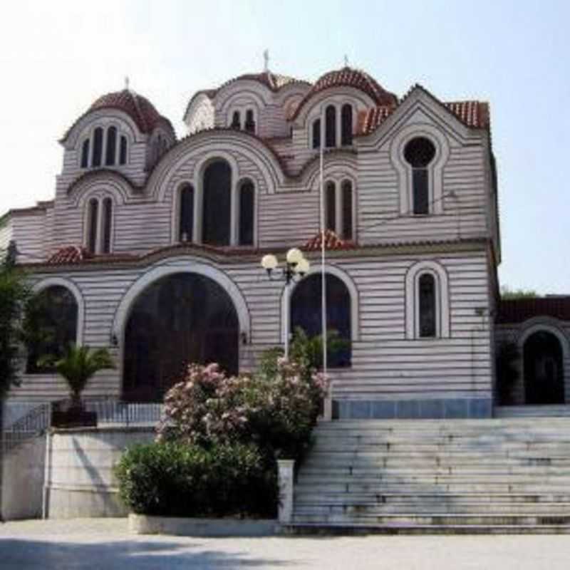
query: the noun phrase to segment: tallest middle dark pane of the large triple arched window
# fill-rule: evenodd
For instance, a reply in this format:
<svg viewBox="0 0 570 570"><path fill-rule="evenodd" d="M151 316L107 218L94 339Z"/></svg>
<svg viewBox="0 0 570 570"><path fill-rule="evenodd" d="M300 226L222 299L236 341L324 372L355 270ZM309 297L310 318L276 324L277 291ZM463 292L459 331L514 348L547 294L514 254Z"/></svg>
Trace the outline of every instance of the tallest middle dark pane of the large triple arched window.
<svg viewBox="0 0 570 570"><path fill-rule="evenodd" d="M229 164L224 160L212 162L204 170L204 244L229 245L231 196L232 170Z"/></svg>

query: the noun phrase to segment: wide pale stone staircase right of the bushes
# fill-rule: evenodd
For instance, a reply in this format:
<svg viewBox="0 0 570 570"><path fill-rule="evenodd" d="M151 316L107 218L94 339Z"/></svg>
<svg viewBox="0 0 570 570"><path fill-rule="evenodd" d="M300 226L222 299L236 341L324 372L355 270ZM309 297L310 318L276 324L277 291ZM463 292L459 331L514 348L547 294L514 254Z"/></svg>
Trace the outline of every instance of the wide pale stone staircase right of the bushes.
<svg viewBox="0 0 570 570"><path fill-rule="evenodd" d="M289 532L569 533L570 418L321 423Z"/></svg>

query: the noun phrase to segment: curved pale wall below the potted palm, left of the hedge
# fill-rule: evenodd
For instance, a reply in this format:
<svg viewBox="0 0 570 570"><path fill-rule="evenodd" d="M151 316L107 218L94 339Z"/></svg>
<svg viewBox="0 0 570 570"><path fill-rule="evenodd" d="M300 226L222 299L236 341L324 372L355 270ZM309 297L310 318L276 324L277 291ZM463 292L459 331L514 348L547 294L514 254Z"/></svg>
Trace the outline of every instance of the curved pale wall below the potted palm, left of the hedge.
<svg viewBox="0 0 570 570"><path fill-rule="evenodd" d="M128 510L119 500L113 467L127 447L154 437L150 426L52 430L47 442L45 516L124 517Z"/></svg>

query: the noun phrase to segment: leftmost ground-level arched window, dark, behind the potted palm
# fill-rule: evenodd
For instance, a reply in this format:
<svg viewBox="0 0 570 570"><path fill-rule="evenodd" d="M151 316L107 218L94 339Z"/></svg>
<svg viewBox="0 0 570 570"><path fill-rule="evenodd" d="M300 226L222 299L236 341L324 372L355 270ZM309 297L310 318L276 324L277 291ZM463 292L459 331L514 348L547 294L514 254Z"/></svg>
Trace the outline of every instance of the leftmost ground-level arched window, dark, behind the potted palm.
<svg viewBox="0 0 570 570"><path fill-rule="evenodd" d="M45 356L56 360L63 356L66 347L77 340L78 306L71 291L61 285L43 289L33 297L28 313L28 328L33 331L28 338L28 362L26 372L53 371L53 364L42 363Z"/></svg>

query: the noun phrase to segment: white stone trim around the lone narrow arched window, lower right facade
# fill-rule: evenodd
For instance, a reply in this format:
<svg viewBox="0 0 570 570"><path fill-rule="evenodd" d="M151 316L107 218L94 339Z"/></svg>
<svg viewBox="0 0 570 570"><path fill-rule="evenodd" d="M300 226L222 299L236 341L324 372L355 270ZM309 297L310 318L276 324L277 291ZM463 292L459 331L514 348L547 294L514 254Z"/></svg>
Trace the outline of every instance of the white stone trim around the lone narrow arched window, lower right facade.
<svg viewBox="0 0 570 570"><path fill-rule="evenodd" d="M445 268L435 261L418 261L408 269L405 276L405 336L420 339L420 308L418 302L418 279L429 273L435 279L435 338L450 337L449 279ZM427 337L426 337L427 340Z"/></svg>

